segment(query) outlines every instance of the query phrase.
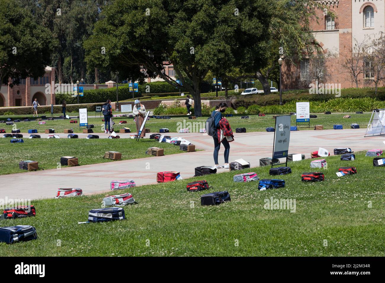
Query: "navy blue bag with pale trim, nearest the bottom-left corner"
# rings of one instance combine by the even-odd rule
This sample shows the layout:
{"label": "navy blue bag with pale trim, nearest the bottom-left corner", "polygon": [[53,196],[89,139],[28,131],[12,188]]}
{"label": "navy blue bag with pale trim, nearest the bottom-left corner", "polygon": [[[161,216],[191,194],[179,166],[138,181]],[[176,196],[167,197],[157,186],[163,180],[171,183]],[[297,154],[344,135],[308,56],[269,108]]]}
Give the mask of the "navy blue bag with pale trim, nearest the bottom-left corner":
{"label": "navy blue bag with pale trim, nearest the bottom-left corner", "polygon": [[0,228],[0,242],[12,244],[37,239],[36,229],[30,225],[17,225]]}

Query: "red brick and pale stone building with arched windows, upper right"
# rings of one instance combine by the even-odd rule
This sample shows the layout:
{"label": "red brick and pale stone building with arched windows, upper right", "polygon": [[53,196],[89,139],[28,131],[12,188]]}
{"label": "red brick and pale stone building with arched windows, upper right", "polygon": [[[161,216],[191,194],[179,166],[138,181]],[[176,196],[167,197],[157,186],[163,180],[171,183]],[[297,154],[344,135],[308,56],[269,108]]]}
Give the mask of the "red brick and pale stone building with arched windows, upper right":
{"label": "red brick and pale stone building with arched windows, upper right", "polygon": [[[332,18],[324,15],[322,9],[316,11],[318,23],[312,20],[311,28],[315,36],[315,44],[324,54],[334,54],[326,59],[326,69],[329,72],[328,84],[341,84],[342,88],[356,87],[347,70],[342,64],[346,58],[352,57],[356,40],[361,43],[366,36],[372,39],[385,32],[385,0],[320,0],[335,14]],[[369,42],[368,42],[369,43]],[[354,52],[354,51],[353,51]],[[295,64],[282,65],[282,89],[300,88],[301,77],[306,77],[310,59],[306,55]],[[370,77],[370,66],[364,66],[359,75],[359,87],[368,86],[365,78]],[[329,81],[330,80],[330,81]],[[374,84],[373,84],[374,85]],[[372,86],[373,86],[372,85]],[[385,86],[380,82],[379,86]]]}

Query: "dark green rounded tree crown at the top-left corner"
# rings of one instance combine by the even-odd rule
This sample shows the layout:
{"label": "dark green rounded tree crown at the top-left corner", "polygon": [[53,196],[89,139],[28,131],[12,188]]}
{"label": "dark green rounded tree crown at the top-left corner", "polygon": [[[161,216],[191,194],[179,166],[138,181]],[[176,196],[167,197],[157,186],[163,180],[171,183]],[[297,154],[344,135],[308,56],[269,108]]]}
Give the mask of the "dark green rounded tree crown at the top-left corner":
{"label": "dark green rounded tree crown at the top-left corner", "polygon": [[52,34],[18,7],[15,0],[0,0],[0,81],[19,84],[19,78],[44,75],[55,48]]}

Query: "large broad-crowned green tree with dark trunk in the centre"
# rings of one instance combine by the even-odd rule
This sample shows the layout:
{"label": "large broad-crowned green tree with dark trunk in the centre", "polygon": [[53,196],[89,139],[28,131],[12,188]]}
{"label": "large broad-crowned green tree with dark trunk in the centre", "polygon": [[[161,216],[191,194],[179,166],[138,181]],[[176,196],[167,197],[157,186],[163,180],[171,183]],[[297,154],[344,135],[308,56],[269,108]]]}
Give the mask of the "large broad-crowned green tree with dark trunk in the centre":
{"label": "large broad-crowned green tree with dark trunk in the centre", "polygon": [[163,67],[171,61],[201,116],[200,87],[209,70],[229,69],[239,52],[245,54],[239,65],[263,65],[274,1],[115,0],[85,43],[86,61],[132,80],[144,79],[142,69],[176,86]]}

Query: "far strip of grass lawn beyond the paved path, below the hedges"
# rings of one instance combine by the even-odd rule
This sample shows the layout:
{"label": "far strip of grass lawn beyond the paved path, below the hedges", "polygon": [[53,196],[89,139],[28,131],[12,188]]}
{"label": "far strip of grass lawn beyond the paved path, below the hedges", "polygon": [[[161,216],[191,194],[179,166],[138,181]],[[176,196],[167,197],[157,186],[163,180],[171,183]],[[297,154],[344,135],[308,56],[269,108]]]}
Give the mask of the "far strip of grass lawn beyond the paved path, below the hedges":
{"label": "far strip of grass lawn beyond the paved path, below the hedges", "polygon": [[[310,119],[310,128],[306,126],[300,126],[300,130],[313,130],[315,125],[323,125],[324,129],[333,129],[333,124],[342,124],[344,129],[350,129],[350,124],[357,123],[361,128],[366,128],[372,114],[350,114],[352,118],[343,119],[344,114],[317,114],[317,118]],[[266,127],[274,127],[275,119],[273,115],[266,115],[264,117],[258,117],[258,115],[248,115],[250,119],[241,119],[239,116],[227,117],[230,126],[235,131],[236,128],[246,128],[247,132],[265,131]],[[177,132],[179,129],[189,127],[190,132],[199,132],[200,128],[204,128],[208,117],[200,117],[198,119],[190,120],[188,117],[172,117],[171,119],[155,119],[150,118],[146,122],[146,128],[150,128],[151,132],[158,132],[161,128],[168,128],[170,132]],[[295,125],[295,116],[291,117],[291,125]],[[127,124],[119,125],[119,121],[127,121]],[[184,121],[185,120],[185,121]],[[136,132],[136,126],[133,118],[129,117],[116,117],[114,118],[114,129],[119,132],[119,129],[129,127],[132,132]],[[89,124],[94,124],[94,132],[102,132],[102,118],[89,118]],[[195,124],[189,124],[195,123]],[[74,132],[81,132],[79,124],[70,124],[70,120],[54,120],[46,121],[45,125],[39,125],[36,121],[31,122],[18,122],[17,128],[21,132],[27,132],[28,129],[37,129],[38,132],[43,133],[45,129],[53,128],[56,132],[63,132],[64,129],[74,129]],[[0,128],[4,128],[8,133],[11,132],[12,126],[6,126],[5,123],[0,124]]]}

